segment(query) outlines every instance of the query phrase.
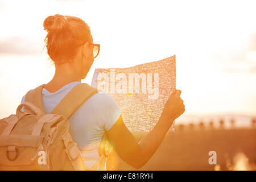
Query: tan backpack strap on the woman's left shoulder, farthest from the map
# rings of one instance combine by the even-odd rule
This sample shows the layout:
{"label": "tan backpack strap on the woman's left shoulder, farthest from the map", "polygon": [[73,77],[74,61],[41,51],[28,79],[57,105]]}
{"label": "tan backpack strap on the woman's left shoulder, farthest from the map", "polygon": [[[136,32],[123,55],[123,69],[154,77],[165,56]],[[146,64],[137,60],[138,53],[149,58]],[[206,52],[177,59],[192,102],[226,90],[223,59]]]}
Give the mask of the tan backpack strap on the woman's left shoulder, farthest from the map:
{"label": "tan backpack strap on the woman's left shoulder, farthest from the map", "polygon": [[[38,107],[42,111],[43,114],[44,114],[44,105],[43,105],[43,98],[42,98],[42,89],[44,88],[44,85],[46,84],[42,84],[35,89],[29,90],[24,100],[24,102],[28,101],[34,104],[36,107]],[[31,113],[31,110],[28,109],[27,107],[24,107],[24,112]]]}

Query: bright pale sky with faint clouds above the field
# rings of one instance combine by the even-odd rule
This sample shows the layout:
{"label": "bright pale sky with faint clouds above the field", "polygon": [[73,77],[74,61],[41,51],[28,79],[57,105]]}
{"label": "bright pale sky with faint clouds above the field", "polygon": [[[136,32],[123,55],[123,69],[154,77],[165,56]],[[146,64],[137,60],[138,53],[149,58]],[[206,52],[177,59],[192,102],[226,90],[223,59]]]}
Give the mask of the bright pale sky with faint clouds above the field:
{"label": "bright pale sky with faint clouds above the field", "polygon": [[96,68],[126,68],[176,55],[184,114],[256,113],[254,1],[0,1],[0,118],[54,75],[43,21],[72,15],[101,44]]}

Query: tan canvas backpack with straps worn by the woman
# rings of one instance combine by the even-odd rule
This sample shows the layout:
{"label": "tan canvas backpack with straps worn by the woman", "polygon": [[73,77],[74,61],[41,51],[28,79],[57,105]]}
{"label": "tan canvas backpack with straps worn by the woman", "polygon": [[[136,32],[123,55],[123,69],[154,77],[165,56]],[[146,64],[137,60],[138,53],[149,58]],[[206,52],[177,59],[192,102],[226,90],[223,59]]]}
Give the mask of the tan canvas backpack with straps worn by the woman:
{"label": "tan canvas backpack with straps worn by the woman", "polygon": [[[0,170],[103,170],[111,152],[107,136],[102,137],[100,159],[85,169],[81,152],[71,137],[68,118],[98,90],[76,85],[52,110],[44,114],[42,89],[28,91],[16,114],[0,120]],[[24,111],[21,111],[24,107]]]}

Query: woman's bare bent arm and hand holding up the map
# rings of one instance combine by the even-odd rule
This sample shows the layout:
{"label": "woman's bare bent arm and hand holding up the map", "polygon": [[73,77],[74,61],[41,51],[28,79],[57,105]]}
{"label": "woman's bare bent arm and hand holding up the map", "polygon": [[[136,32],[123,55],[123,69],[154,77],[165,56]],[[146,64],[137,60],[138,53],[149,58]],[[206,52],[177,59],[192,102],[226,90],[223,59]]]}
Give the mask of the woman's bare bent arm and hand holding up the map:
{"label": "woman's bare bent arm and hand holding up the map", "polygon": [[122,116],[110,130],[106,131],[110,143],[122,160],[135,168],[141,168],[148,162],[162,143],[174,119],[184,113],[180,93],[180,90],[176,90],[171,94],[158,123],[139,143],[123,123]]}

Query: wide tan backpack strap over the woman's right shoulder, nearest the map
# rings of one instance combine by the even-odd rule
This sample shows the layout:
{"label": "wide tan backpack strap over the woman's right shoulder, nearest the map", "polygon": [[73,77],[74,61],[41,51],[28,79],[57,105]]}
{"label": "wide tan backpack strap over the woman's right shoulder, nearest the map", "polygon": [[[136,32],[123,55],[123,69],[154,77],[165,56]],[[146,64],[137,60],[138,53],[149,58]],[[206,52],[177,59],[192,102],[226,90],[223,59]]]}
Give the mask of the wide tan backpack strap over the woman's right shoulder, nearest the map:
{"label": "wide tan backpack strap over the woman's right shoulder, nearest the map", "polygon": [[64,115],[65,118],[69,119],[88,98],[97,92],[98,89],[88,84],[78,84],[57,104],[51,114]]}

